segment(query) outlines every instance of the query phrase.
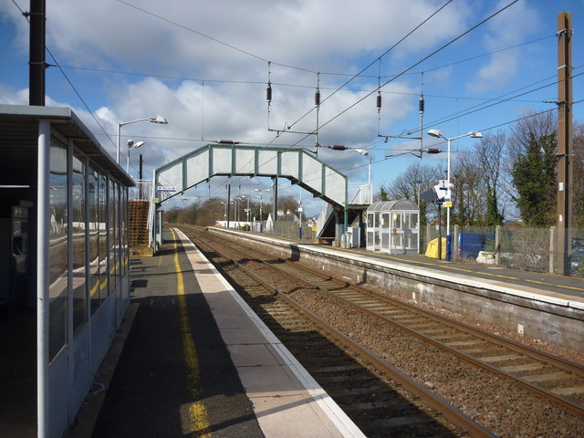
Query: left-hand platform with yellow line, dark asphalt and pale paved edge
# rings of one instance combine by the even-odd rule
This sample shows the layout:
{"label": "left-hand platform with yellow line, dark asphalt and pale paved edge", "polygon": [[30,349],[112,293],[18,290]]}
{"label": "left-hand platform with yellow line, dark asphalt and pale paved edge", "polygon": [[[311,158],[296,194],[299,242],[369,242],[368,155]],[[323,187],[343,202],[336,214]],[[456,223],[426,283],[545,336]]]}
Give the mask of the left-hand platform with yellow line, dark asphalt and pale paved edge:
{"label": "left-hand platform with yellow line, dark asphalt and pale paved edge", "polygon": [[130,280],[122,339],[69,438],[364,436],[180,231],[131,258]]}

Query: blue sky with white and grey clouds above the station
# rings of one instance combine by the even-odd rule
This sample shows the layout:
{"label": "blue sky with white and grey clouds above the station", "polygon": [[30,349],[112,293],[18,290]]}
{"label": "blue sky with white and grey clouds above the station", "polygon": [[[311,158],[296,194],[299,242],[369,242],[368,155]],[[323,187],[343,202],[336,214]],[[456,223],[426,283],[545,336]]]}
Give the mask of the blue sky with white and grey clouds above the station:
{"label": "blue sky with white and grey clouds above the station", "polygon": [[[21,11],[29,9],[28,0],[0,2],[0,103],[28,103]],[[561,11],[572,12],[578,102],[584,0],[47,0],[47,105],[73,109],[114,160],[119,122],[168,120],[122,128],[122,145],[145,143],[130,154],[134,178],[139,154],[151,175],[205,144],[232,140],[317,150],[351,185],[367,183],[370,167],[378,192],[420,160],[445,167],[446,153],[418,156],[421,147],[446,149],[427,130],[450,138],[496,133],[530,111],[555,108]],[[395,138],[420,137],[422,93],[422,144]],[[583,105],[574,106],[575,120]],[[453,141],[453,159],[475,141]],[[349,149],[326,147],[339,144]],[[214,178],[173,202],[225,197],[227,183],[232,194],[253,197],[271,180]],[[278,195],[299,199],[300,189],[279,180]],[[305,214],[318,215],[322,202],[302,196]]]}

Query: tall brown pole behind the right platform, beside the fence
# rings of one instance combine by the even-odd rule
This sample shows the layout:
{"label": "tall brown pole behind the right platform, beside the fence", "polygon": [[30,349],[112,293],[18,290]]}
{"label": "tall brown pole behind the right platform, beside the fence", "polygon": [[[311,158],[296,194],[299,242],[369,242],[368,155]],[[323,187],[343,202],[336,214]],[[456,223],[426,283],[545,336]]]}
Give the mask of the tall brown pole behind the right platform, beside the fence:
{"label": "tall brown pole behind the right platform, beside the fence", "polygon": [[558,251],[556,272],[569,275],[572,214],[572,13],[558,14]]}

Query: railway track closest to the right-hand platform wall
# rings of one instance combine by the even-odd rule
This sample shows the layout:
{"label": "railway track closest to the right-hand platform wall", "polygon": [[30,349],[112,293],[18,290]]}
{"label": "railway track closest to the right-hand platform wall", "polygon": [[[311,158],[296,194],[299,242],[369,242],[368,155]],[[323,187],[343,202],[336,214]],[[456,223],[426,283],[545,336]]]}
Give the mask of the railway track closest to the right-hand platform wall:
{"label": "railway track closest to the right-hand platform wall", "polygon": [[[240,246],[241,247],[241,246]],[[234,247],[237,249],[237,246]],[[528,348],[433,312],[415,308],[391,299],[365,287],[322,273],[307,266],[276,263],[252,248],[247,255],[273,265],[276,269],[296,276],[309,285],[327,291],[370,315],[381,318],[413,336],[449,351],[463,360],[518,381],[532,391],[549,398],[563,407],[584,415],[584,367],[569,360]],[[251,252],[253,251],[253,253]]]}

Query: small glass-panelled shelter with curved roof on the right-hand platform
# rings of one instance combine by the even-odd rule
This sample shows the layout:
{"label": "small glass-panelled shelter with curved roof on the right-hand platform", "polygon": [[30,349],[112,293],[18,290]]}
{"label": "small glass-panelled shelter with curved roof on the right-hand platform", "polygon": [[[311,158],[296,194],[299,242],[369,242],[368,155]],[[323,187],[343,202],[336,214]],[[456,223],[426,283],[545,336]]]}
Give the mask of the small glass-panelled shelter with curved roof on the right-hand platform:
{"label": "small glass-panelled shelter with curved roof on the right-hand platform", "polygon": [[420,211],[412,201],[381,201],[367,209],[367,249],[387,254],[418,254]]}

